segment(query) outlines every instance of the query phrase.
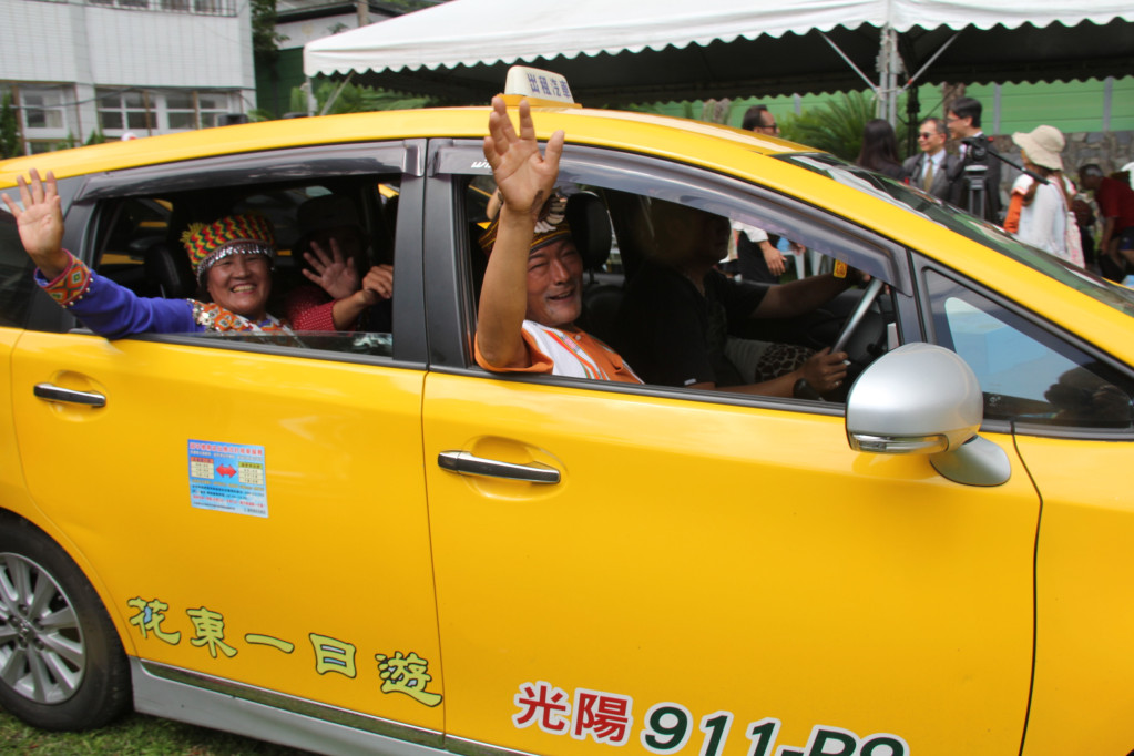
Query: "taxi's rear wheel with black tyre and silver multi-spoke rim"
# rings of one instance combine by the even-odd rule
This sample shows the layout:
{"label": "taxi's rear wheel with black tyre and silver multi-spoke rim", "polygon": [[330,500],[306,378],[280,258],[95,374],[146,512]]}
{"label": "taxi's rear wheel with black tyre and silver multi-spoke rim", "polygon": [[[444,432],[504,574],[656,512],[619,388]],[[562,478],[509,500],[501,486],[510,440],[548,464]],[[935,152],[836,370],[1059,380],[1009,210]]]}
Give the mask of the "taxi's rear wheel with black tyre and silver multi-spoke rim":
{"label": "taxi's rear wheel with black tyre and silver multi-spoke rim", "polygon": [[0,518],[0,705],[43,730],[90,730],[132,706],[107,610],[45,533]]}

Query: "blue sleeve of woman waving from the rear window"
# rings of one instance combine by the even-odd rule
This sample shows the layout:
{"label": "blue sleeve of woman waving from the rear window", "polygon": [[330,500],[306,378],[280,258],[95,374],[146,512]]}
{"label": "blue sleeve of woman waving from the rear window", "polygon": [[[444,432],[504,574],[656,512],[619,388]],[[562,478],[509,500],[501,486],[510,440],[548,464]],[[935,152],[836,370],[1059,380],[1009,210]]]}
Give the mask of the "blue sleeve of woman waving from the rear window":
{"label": "blue sleeve of woman waving from the rear window", "polygon": [[[36,282],[46,286],[35,272]],[[108,339],[135,333],[194,333],[205,330],[193,320],[188,299],[139,297],[129,289],[91,271],[91,282],[82,298],[67,309],[85,326]]]}

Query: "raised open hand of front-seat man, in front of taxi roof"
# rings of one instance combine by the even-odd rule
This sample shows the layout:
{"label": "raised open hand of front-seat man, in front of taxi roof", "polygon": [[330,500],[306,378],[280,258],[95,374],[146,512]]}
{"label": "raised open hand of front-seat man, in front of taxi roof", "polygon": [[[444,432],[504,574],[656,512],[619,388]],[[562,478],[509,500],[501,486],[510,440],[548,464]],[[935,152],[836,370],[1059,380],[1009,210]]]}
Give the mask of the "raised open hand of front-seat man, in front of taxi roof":
{"label": "raised open hand of front-seat man, in front of taxi roof", "polygon": [[489,134],[484,137],[484,158],[506,209],[526,212],[533,218],[551,196],[559,176],[559,158],[564,150],[564,133],[551,135],[543,155],[535,141],[535,126],[526,100],[519,103],[519,134],[513,128],[503,99],[492,97]]}

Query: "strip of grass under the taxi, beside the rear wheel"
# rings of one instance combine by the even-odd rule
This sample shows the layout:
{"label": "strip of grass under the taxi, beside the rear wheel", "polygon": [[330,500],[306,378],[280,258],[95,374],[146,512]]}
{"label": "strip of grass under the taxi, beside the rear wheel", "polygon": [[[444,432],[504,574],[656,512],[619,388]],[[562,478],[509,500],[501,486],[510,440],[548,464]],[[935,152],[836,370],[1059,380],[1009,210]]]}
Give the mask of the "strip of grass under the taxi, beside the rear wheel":
{"label": "strip of grass under the taxi, beside the rear wheel", "polygon": [[0,754],[34,756],[303,756],[304,750],[130,714],[93,732],[44,732],[0,708]]}

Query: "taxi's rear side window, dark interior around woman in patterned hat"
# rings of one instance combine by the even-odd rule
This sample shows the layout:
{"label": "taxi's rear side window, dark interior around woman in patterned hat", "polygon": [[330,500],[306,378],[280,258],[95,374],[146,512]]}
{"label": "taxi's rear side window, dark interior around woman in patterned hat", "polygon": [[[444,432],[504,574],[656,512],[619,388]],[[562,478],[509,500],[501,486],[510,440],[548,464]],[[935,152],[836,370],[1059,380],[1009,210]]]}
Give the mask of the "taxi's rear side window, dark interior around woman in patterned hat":
{"label": "taxi's rear side window, dark interior around woman in patterned hat", "polygon": [[[90,257],[96,261],[100,274],[141,297],[208,301],[209,294],[188,263],[183,232],[225,215],[266,218],[276,239],[268,313],[285,321],[291,332],[280,337],[206,331],[195,337],[218,346],[390,357],[391,299],[366,305],[346,320],[333,305],[358,292],[374,266],[392,263],[399,185],[400,175],[339,176],[104,199],[95,211]],[[337,279],[333,283],[341,290],[328,292],[307,275],[312,264],[304,253],[312,252],[314,238],[330,257],[332,237],[341,247],[339,267],[350,261],[354,277]],[[342,287],[352,281],[350,291],[346,291]]]}

